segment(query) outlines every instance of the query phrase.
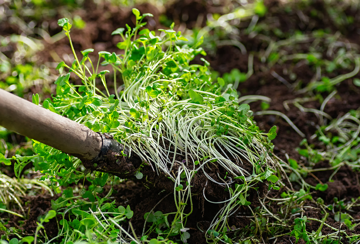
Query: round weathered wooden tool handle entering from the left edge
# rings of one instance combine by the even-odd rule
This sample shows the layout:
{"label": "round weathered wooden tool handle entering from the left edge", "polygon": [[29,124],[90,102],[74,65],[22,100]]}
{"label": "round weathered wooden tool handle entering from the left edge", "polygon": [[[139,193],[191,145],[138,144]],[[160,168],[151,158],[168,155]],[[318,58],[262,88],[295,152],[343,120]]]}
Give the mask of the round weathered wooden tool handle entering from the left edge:
{"label": "round weathered wooden tool handle entering from the left edge", "polygon": [[97,157],[102,137],[50,110],[0,89],[0,126],[83,160]]}

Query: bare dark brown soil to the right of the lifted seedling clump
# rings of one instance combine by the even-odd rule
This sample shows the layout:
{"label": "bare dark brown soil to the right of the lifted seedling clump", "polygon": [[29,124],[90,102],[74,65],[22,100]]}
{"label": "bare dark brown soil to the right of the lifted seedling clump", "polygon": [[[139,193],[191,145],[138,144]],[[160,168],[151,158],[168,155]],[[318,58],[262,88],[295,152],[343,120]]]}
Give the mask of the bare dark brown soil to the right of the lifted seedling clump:
{"label": "bare dark brown soil to the right of the lifted seedling clump", "polygon": [[[320,29],[329,27],[330,33],[334,33],[336,31],[341,31],[346,37],[349,42],[356,43],[357,41],[354,40],[354,32],[353,25],[345,25],[341,26],[341,28],[337,28],[337,26],[333,23],[333,20],[327,16],[325,11],[324,17],[322,19],[319,18],[311,18],[309,16],[309,12],[311,10],[316,9],[319,11],[321,8],[324,8],[324,4],[322,1],[314,1],[314,4],[311,7],[307,7],[303,13],[305,14],[306,18],[310,17],[309,23],[303,23],[301,19],[299,19],[298,14],[293,9],[292,12],[285,13],[284,8],[279,8],[280,3],[277,1],[269,1],[268,7],[269,12],[266,15],[267,19],[269,20],[267,23],[270,25],[269,30],[273,28],[280,28],[283,32],[290,31],[294,33],[296,30],[300,30],[303,33],[310,33],[312,30]],[[302,9],[300,9],[302,11]],[[354,14],[354,18],[359,17],[359,12],[350,12],[347,10],[347,13]],[[271,18],[270,18],[271,16]],[[260,22],[261,20],[259,20]],[[266,22],[265,19],[263,19]],[[273,22],[273,26],[271,23]],[[247,26],[248,22],[243,22],[242,26]],[[241,29],[240,29],[241,31]],[[265,34],[265,33],[264,33]],[[270,33],[267,32],[267,35]],[[273,34],[274,35],[274,34]],[[271,36],[273,40],[279,40],[279,37]],[[359,34],[356,34],[357,40],[359,39]],[[306,135],[307,141],[310,143],[314,143],[318,148],[321,148],[321,145],[318,141],[312,140],[310,137],[315,133],[317,130],[316,126],[321,125],[319,119],[315,116],[314,113],[305,113],[301,112],[298,108],[293,105],[289,105],[290,109],[285,109],[283,102],[286,100],[292,100],[295,98],[305,98],[306,94],[297,94],[296,90],[289,89],[284,83],[280,82],[276,79],[273,75],[271,75],[272,71],[275,71],[280,76],[285,78],[287,81],[291,81],[288,73],[285,73],[285,70],[292,70],[293,73],[297,75],[297,78],[302,80],[304,84],[311,80],[314,76],[315,71],[309,65],[303,64],[294,67],[291,63],[284,63],[282,65],[275,64],[273,67],[267,67],[266,63],[262,63],[260,61],[260,57],[257,57],[257,53],[260,50],[264,50],[267,48],[267,43],[264,42],[262,39],[259,39],[257,36],[253,37],[252,39],[249,38],[247,35],[240,34],[240,40],[246,46],[248,51],[252,51],[254,54],[254,74],[244,83],[241,83],[238,87],[238,91],[241,92],[242,95],[263,95],[271,98],[270,107],[268,110],[276,110],[284,113],[288,116],[292,122]],[[303,47],[304,50],[308,50],[306,45]],[[306,52],[305,52],[306,53]],[[232,69],[237,68],[240,72],[247,73],[248,71],[248,54],[242,54],[242,52],[235,46],[222,46],[217,49],[216,55],[211,57],[205,57],[211,64],[211,67],[219,71],[220,74],[230,72]],[[291,67],[292,65],[292,67]],[[338,71],[339,74],[341,73],[348,73],[350,70]],[[336,76],[337,74],[333,74]],[[355,77],[359,78],[360,75],[357,74]],[[347,79],[343,81],[341,84],[336,86],[338,91],[337,96],[334,97],[329,101],[327,106],[324,109],[324,112],[328,113],[332,118],[339,118],[345,113],[347,113],[350,109],[358,109],[360,107],[360,89],[356,87],[352,83],[352,79]],[[324,97],[327,94],[323,94]],[[310,101],[302,104],[306,108],[314,108],[319,109],[321,103],[316,101]],[[261,111],[261,104],[260,102],[251,103],[251,109],[256,111]],[[278,127],[277,134],[278,136],[272,141],[275,145],[274,152],[286,161],[285,153],[289,155],[290,158],[296,159],[297,162],[307,164],[306,159],[301,157],[298,152],[295,150],[298,146],[303,137],[297,134],[289,124],[284,121],[281,117],[274,116],[274,115],[266,115],[266,116],[255,116],[255,121],[258,122],[258,126],[260,129],[268,131],[273,125]],[[329,167],[328,162],[320,162],[316,164],[315,168],[326,168]],[[321,197],[325,200],[325,204],[333,203],[333,198],[337,197],[338,199],[345,198],[346,200],[350,200],[351,198],[357,198],[360,195],[360,185],[359,185],[359,177],[356,172],[351,170],[347,166],[342,166],[338,172],[333,176],[332,181],[329,182],[329,177],[333,173],[333,170],[328,171],[321,171],[314,173],[315,177],[317,177],[321,182],[327,183],[329,185],[328,190],[321,192],[317,191],[312,194],[314,199]],[[311,185],[316,185],[319,181],[309,176],[306,181]],[[346,202],[345,200],[345,202]],[[309,204],[311,205],[311,204]],[[316,207],[316,204],[313,204]],[[338,210],[337,210],[338,211]],[[313,217],[322,219],[324,217],[324,213],[320,213],[320,209],[318,211],[307,211],[304,215],[307,217]],[[357,216],[357,211],[351,213],[354,217]],[[330,214],[328,217],[327,223],[333,227],[338,228],[339,223],[334,222],[333,214]],[[317,230],[320,226],[319,222],[311,221],[307,224],[307,231]],[[346,226],[342,226],[342,230],[346,230]],[[359,231],[359,230],[355,230]],[[329,227],[322,229],[323,233],[333,232]],[[292,239],[292,243],[295,243],[295,239]],[[300,240],[298,243],[302,243]],[[344,240],[345,241],[345,240]],[[271,242],[270,242],[271,243]],[[291,243],[289,237],[279,238],[277,243]],[[346,241],[345,241],[346,243]]]}

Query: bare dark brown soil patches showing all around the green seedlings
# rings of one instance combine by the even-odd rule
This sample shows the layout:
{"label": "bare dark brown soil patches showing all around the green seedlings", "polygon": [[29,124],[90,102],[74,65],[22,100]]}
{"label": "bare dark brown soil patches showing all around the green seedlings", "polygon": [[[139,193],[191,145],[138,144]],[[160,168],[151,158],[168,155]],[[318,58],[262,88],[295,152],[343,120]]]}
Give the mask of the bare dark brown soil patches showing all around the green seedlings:
{"label": "bare dark brown soil patches showing all around the green seedlings", "polygon": [[[171,5],[167,5],[164,12],[161,12],[156,7],[144,3],[138,6],[135,6],[140,10],[141,13],[152,13],[153,18],[147,19],[147,26],[150,30],[156,30],[157,28],[163,28],[168,22],[163,21],[164,16],[170,20],[174,21],[176,28],[184,29],[202,27],[206,24],[206,16],[209,13],[224,13],[226,12],[222,6],[228,4],[227,1],[217,1],[218,3],[214,4],[215,1],[205,1],[205,0],[186,0],[186,1],[175,1]],[[359,32],[357,31],[360,28],[360,13],[359,10],[355,11],[350,7],[346,7],[343,4],[338,4],[337,6],[330,6],[332,8],[343,8],[343,11],[354,19],[353,23],[348,23],[343,21],[341,23],[336,21],[332,15],[329,14],[329,6],[325,5],[323,1],[314,0],[309,1],[309,5],[301,3],[295,5],[295,3],[290,3],[285,8],[281,1],[276,0],[267,0],[265,1],[268,8],[268,13],[265,17],[261,17],[258,23],[265,23],[268,28],[262,30],[259,34],[268,36],[274,41],[285,39],[289,36],[294,35],[296,31],[302,33],[310,33],[314,30],[327,30],[329,33],[335,33],[339,31],[343,36],[343,40],[348,40],[350,43],[357,43],[360,39]],[[230,5],[229,5],[230,6]],[[231,5],[232,8],[237,5]],[[331,11],[330,11],[331,12]],[[94,53],[98,51],[107,50],[109,52],[115,51],[118,53],[116,48],[117,42],[121,41],[118,36],[111,36],[111,32],[116,30],[119,27],[124,27],[125,24],[129,24],[131,27],[134,26],[134,16],[131,14],[131,8],[117,8],[109,4],[104,4],[101,8],[93,3],[88,3],[84,5],[83,10],[75,10],[74,15],[80,15],[82,19],[86,22],[86,27],[83,30],[74,29],[72,30],[71,36],[74,44],[74,48],[77,51],[84,50],[87,48],[94,48]],[[43,21],[49,22],[50,28],[49,32],[51,35],[54,35],[60,32],[60,28],[57,27],[57,19],[62,18],[58,13],[54,18],[45,19]],[[160,23],[159,18],[162,19]],[[41,22],[38,23],[41,25]],[[244,44],[247,49],[247,54],[243,54],[235,46],[221,46],[217,50],[212,50],[213,55],[208,55],[205,57],[211,64],[213,70],[224,74],[230,72],[232,69],[237,68],[240,72],[246,73],[248,71],[248,54],[254,54],[254,74],[244,83],[241,83],[238,87],[238,91],[242,95],[263,95],[271,99],[270,107],[268,110],[276,110],[284,113],[288,116],[293,123],[305,134],[305,138],[310,143],[314,143],[318,148],[322,148],[323,145],[320,144],[316,139],[311,139],[310,137],[317,130],[316,126],[320,125],[318,117],[314,113],[305,113],[301,112],[297,107],[292,104],[289,104],[289,110],[285,109],[283,102],[286,100],[292,100],[295,98],[305,98],[307,94],[297,94],[296,90],[291,90],[284,83],[276,79],[271,73],[275,71],[277,74],[282,76],[285,80],[291,81],[289,77],[289,70],[292,70],[296,74],[298,80],[302,80],[303,88],[306,83],[308,83],[315,74],[315,70],[310,65],[303,63],[302,65],[293,65],[290,62],[285,62],[282,65],[275,64],[272,67],[269,67],[266,63],[262,63],[260,60],[259,51],[265,50],[269,45],[264,39],[257,35],[255,37],[250,37],[244,31],[249,25],[249,20],[244,20],[239,24],[240,35],[238,39]],[[275,33],[275,30],[279,29],[283,34],[279,35]],[[0,23],[0,32],[3,35],[10,33],[21,34],[15,25],[9,23]],[[41,60],[39,62],[59,62],[64,57],[64,54],[70,54],[71,49],[68,45],[68,40],[63,38],[62,40],[51,44],[45,43],[46,48],[39,55]],[[311,43],[309,43],[310,45]],[[303,44],[301,49],[304,51],[309,49],[308,44]],[[49,51],[50,50],[50,51]],[[12,50],[8,51],[8,55],[11,55]],[[80,54],[80,53],[79,53]],[[91,56],[90,56],[91,57]],[[95,56],[94,56],[95,58]],[[200,62],[200,57],[195,59],[195,62]],[[336,76],[341,73],[348,73],[349,70],[338,70],[338,73],[330,74],[329,76]],[[360,78],[360,74],[355,76]],[[292,82],[291,82],[292,83]],[[352,78],[347,79],[341,82],[336,86],[338,91],[337,96],[334,96],[328,104],[326,105],[324,112],[328,113],[332,118],[338,118],[343,114],[347,113],[350,109],[358,109],[360,107],[360,89],[357,86],[354,86],[352,83]],[[321,94],[324,97],[327,94]],[[319,109],[321,103],[319,100],[309,101],[302,104],[306,108]],[[251,103],[251,109],[256,111],[261,111],[260,102]],[[278,136],[272,141],[275,145],[274,152],[284,161],[286,161],[285,153],[288,154],[290,158],[296,159],[298,163],[308,165],[306,159],[301,157],[298,152],[295,150],[300,141],[303,139],[296,131],[293,130],[291,126],[288,125],[281,117],[274,115],[265,115],[265,116],[255,116],[255,121],[261,130],[268,131],[273,125],[278,127],[277,134]],[[328,167],[328,162],[319,162],[315,165],[315,168],[324,168]],[[318,180],[329,185],[328,190],[324,192],[316,191],[312,194],[312,197],[316,200],[321,197],[324,199],[325,204],[332,204],[334,197],[338,199],[345,198],[346,200],[351,200],[351,198],[357,198],[360,195],[360,185],[358,174],[352,171],[347,166],[342,166],[338,172],[333,176],[333,181],[329,182],[329,176],[333,173],[332,170],[314,172],[315,177],[309,176],[306,179],[306,182],[311,185],[318,184]],[[198,179],[197,179],[198,177]],[[195,182],[198,182],[198,186],[195,188],[201,189],[203,187],[203,178],[202,175],[195,177]],[[216,175],[214,177],[217,177]],[[149,190],[140,182],[126,181],[121,185],[114,186],[114,189],[117,191],[116,195],[113,195],[116,202],[119,205],[129,204],[131,209],[134,211],[134,217],[132,218],[132,225],[135,228],[136,234],[140,235],[143,230],[144,225],[144,213],[149,212],[154,205],[156,205],[160,199],[163,199],[161,203],[157,205],[154,211],[163,211],[169,212],[174,211],[174,199],[172,195],[168,195],[168,191],[162,192],[163,189],[166,189],[165,186],[156,186]],[[223,195],[222,192],[217,189],[217,192],[211,193],[211,187],[208,188],[207,194],[211,195],[213,198],[218,198],[220,200]],[[266,189],[262,189],[264,192]],[[253,194],[255,195],[255,194]],[[50,198],[47,196],[39,196],[36,198],[24,199],[24,201],[29,201],[28,205],[31,210],[31,216],[26,220],[26,223],[19,226],[18,219],[15,218],[9,222],[9,226],[20,227],[24,233],[30,234],[33,233],[36,228],[36,218],[41,214],[44,214],[51,207]],[[317,208],[317,205],[314,202],[306,202],[306,205],[313,206]],[[194,212],[188,220],[190,228],[191,239],[190,243],[206,243],[204,233],[198,230],[200,226],[202,230],[206,230],[209,223],[212,221],[213,216],[211,214],[204,213],[216,213],[219,211],[220,205],[211,204],[203,200],[202,197],[197,197],[194,199]],[[275,208],[275,207],[274,207]],[[242,209],[244,211],[244,209]],[[277,212],[277,209],[274,209]],[[352,217],[355,219],[360,218],[360,209],[354,208],[354,213],[351,213]],[[319,210],[306,209],[305,215],[307,217],[313,217],[322,219],[324,214]],[[30,218],[31,217],[31,218]],[[328,217],[327,223],[330,226],[338,227],[339,223],[333,220],[333,214],[330,214]],[[229,226],[235,225],[236,228],[245,228],[249,225],[250,221],[248,218],[238,218],[231,217],[229,220]],[[50,225],[48,223],[48,225]],[[55,223],[54,223],[55,225]],[[314,230],[316,231],[319,227],[319,222],[311,221],[307,223],[307,231]],[[57,226],[49,227],[46,229],[48,235],[57,234]],[[51,229],[52,228],[52,229]],[[346,230],[346,226],[342,226],[343,230]],[[360,229],[355,231],[360,232]],[[323,234],[328,234],[333,232],[329,227],[323,227]],[[265,240],[264,243],[272,243],[274,239],[267,240],[270,236],[263,235]],[[289,236],[281,237],[277,240],[276,243],[287,244],[295,243],[295,238]],[[298,241],[299,244],[305,243],[303,240]],[[346,243],[346,242],[343,242]]]}

